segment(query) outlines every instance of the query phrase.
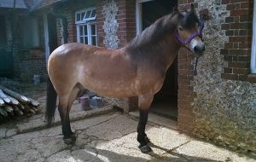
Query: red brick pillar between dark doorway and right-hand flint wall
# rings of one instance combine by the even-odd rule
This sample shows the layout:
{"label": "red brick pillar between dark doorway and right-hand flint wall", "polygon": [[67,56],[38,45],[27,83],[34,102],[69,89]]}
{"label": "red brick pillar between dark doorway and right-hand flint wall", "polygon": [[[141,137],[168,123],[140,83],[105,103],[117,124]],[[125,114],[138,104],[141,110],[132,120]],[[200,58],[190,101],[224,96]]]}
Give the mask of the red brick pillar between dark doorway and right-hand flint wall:
{"label": "red brick pillar between dark doorway and right-hand flint wall", "polygon": [[[177,3],[179,10],[182,11],[190,9],[194,0],[177,1]],[[194,6],[197,8],[197,3]],[[180,49],[177,56],[177,130],[190,136],[195,136],[195,113],[191,106],[191,102],[196,96],[192,84],[194,80],[193,61],[194,55],[188,49]]]}

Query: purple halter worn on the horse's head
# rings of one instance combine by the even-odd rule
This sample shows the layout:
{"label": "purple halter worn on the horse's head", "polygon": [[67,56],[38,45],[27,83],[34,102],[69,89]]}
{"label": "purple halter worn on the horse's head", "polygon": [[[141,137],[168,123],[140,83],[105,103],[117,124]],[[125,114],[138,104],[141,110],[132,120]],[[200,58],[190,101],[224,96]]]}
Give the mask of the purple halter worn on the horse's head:
{"label": "purple halter worn on the horse's head", "polygon": [[190,43],[191,40],[192,40],[193,38],[197,37],[197,36],[202,39],[202,30],[203,30],[204,27],[205,27],[205,20],[204,20],[203,16],[200,16],[199,26],[200,26],[199,31],[195,32],[194,34],[191,34],[190,37],[189,37],[187,40],[185,40],[185,41],[183,41],[183,40],[178,36],[178,33],[176,32],[176,38],[177,38],[178,42],[180,42],[180,43],[182,43],[183,45],[185,45],[185,44]]}

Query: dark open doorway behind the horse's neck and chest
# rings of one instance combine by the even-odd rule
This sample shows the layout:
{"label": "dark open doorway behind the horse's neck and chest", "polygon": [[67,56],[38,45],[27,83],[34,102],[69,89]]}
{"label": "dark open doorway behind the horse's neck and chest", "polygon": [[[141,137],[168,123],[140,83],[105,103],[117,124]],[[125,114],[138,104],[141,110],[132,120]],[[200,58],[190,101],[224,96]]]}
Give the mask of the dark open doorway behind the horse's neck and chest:
{"label": "dark open doorway behind the horse's neck and chest", "polygon": [[[143,30],[161,16],[172,13],[175,6],[177,0],[154,0],[142,3]],[[166,72],[162,89],[154,95],[150,112],[177,120],[177,59]]]}

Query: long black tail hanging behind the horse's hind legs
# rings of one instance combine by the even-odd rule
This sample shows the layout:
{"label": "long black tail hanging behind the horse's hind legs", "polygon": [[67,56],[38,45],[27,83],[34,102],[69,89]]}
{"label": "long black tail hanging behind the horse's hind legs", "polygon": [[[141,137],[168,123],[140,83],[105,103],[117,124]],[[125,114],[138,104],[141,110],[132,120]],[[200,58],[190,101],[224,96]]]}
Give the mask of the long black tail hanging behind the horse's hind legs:
{"label": "long black tail hanging behind the horse's hind legs", "polygon": [[57,93],[50,79],[47,80],[47,105],[45,111],[45,121],[49,127],[55,116]]}

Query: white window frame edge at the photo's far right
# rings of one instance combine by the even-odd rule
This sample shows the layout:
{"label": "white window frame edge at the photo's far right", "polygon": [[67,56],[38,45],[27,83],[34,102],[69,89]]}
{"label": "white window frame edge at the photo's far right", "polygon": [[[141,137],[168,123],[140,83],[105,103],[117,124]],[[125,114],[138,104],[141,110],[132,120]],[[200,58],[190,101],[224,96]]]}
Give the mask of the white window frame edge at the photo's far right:
{"label": "white window frame edge at the photo's far right", "polygon": [[251,55],[251,72],[256,73],[256,0],[253,7],[253,43]]}

